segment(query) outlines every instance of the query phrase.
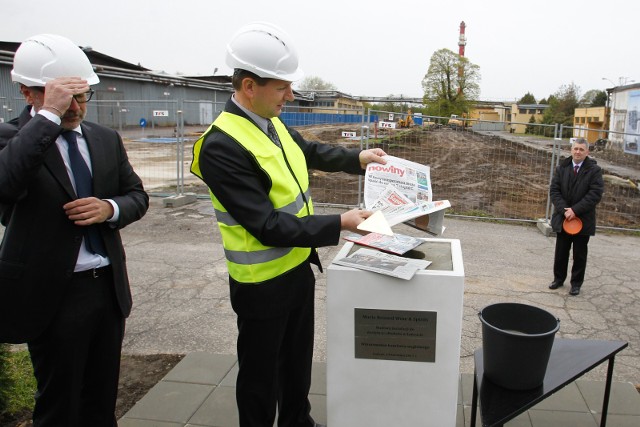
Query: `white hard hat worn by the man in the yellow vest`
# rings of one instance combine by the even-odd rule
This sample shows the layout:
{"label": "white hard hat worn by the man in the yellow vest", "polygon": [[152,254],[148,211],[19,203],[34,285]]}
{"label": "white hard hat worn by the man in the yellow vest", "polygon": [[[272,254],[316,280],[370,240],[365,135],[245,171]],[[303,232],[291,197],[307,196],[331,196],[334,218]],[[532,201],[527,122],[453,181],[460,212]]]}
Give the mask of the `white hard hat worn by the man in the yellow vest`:
{"label": "white hard hat worn by the man in the yellow vest", "polygon": [[288,82],[300,80],[304,74],[289,35],[267,22],[247,24],[233,35],[227,44],[227,65]]}

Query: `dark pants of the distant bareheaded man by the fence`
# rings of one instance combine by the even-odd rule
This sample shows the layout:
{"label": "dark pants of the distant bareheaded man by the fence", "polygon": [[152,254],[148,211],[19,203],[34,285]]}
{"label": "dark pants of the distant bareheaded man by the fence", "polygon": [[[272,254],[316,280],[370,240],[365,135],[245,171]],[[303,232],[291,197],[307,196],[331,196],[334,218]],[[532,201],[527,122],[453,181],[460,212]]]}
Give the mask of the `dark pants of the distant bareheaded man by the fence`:
{"label": "dark pants of the distant bareheaded man by the fence", "polygon": [[553,261],[554,282],[564,283],[567,278],[569,252],[573,245],[573,265],[571,267],[571,286],[582,286],[587,269],[588,235],[571,235],[560,232],[556,236],[556,254]]}

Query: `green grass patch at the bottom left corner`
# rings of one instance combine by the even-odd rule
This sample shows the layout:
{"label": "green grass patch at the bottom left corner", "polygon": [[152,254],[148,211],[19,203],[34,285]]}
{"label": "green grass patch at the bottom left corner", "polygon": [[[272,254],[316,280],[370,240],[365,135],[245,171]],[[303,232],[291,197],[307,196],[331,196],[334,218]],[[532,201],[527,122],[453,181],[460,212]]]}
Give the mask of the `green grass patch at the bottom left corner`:
{"label": "green grass patch at the bottom left corner", "polygon": [[0,344],[0,416],[32,411],[35,391],[29,352]]}

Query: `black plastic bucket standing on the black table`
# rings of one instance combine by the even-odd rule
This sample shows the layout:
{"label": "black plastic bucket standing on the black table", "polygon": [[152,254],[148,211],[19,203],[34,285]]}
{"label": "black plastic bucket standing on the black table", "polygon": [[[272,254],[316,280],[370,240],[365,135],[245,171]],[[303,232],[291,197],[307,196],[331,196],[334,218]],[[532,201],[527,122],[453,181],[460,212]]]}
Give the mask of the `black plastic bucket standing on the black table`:
{"label": "black plastic bucket standing on the black table", "polygon": [[484,375],[511,390],[542,385],[560,320],[526,304],[499,303],[478,313]]}

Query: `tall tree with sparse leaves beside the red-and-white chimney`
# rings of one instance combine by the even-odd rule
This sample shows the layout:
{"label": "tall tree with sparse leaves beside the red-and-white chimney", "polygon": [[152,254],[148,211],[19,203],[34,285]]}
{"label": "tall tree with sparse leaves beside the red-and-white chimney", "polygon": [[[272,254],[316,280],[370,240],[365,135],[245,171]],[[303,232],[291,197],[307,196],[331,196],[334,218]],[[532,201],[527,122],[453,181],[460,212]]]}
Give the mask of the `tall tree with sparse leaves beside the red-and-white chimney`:
{"label": "tall tree with sparse leaves beside the red-and-white chimney", "polygon": [[449,49],[440,49],[431,55],[422,88],[429,115],[466,113],[480,95],[480,67]]}

